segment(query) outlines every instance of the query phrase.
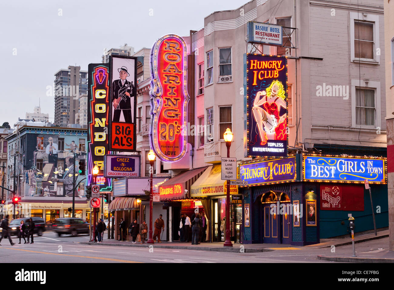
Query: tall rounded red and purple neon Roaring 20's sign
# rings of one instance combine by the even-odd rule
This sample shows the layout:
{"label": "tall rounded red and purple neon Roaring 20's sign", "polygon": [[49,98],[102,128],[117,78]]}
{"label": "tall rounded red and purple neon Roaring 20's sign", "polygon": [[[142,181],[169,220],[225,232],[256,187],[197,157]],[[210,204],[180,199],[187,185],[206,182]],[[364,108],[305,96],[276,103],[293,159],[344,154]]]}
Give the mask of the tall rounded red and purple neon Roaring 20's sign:
{"label": "tall rounded red and purple neon Roaring 20's sign", "polygon": [[187,49],[176,35],[163,36],[151,50],[151,148],[159,159],[173,162],[186,153]]}

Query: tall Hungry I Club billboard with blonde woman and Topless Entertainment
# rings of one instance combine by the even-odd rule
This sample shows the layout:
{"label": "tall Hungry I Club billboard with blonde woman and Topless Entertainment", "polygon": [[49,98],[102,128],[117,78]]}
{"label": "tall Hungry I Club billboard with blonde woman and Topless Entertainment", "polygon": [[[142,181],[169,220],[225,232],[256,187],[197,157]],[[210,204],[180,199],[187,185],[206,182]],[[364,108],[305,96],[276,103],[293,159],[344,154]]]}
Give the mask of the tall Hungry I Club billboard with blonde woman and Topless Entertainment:
{"label": "tall Hungry I Club billboard with blonde woman and Topless Entertainment", "polygon": [[287,58],[247,54],[247,155],[287,157]]}

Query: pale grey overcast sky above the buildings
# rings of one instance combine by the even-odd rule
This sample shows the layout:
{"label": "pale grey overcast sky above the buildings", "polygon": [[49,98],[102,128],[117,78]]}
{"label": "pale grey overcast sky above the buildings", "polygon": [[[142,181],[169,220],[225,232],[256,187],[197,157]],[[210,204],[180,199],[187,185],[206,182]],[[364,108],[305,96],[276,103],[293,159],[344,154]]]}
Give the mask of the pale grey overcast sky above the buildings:
{"label": "pale grey overcast sky above the buildings", "polygon": [[189,30],[204,26],[210,13],[247,2],[1,0],[0,125],[9,122],[13,127],[18,117],[33,112],[40,98],[41,112],[54,122],[54,97],[46,95],[46,87],[61,68],[80,65],[87,70],[89,63],[101,62],[104,48],[127,43],[138,51],[164,34],[188,36]]}

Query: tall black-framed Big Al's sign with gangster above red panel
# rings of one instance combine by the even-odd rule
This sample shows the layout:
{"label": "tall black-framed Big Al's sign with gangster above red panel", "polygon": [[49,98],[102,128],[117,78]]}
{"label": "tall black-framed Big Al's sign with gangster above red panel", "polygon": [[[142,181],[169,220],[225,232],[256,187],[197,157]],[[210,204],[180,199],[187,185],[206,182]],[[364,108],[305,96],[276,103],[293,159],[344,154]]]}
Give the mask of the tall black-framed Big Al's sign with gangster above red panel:
{"label": "tall black-framed Big Al's sign with gangster above red panel", "polygon": [[110,57],[110,142],[111,151],[136,151],[137,58]]}

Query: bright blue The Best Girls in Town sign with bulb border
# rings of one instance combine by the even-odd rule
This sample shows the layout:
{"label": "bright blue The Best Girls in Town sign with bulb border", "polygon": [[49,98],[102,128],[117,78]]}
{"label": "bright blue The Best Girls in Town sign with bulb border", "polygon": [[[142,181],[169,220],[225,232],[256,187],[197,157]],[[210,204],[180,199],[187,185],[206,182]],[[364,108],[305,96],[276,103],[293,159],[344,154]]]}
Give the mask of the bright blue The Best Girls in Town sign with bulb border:
{"label": "bright blue The Best Girls in Town sign with bulb border", "polygon": [[385,158],[303,156],[305,181],[386,183]]}

